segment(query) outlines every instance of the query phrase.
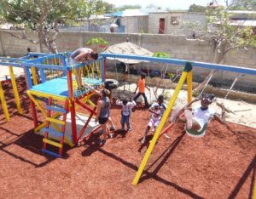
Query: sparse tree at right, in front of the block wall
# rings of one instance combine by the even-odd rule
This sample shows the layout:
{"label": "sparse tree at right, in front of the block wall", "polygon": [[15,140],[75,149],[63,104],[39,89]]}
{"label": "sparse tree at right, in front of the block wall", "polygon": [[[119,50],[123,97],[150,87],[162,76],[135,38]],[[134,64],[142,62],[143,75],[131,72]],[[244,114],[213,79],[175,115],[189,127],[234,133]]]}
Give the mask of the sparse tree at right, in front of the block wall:
{"label": "sparse tree at right, in front of the block wall", "polygon": [[[207,11],[207,31],[203,37],[211,37],[214,41],[213,62],[219,64],[231,50],[239,48],[256,48],[256,35],[253,27],[233,24],[227,9],[218,7]],[[194,89],[199,92],[212,78],[212,71],[201,84]]]}

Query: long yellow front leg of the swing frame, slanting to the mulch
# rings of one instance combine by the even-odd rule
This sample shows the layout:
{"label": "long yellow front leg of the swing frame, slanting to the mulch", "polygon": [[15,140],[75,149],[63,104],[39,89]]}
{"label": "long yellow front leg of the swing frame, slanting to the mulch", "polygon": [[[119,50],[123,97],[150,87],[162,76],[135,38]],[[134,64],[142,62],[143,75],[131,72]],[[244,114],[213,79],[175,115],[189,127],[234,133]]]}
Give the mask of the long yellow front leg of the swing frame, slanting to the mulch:
{"label": "long yellow front leg of the swing frame, slanting to the mulch", "polygon": [[167,117],[170,115],[171,111],[172,111],[172,106],[174,105],[176,99],[177,99],[177,94],[179,93],[179,91],[181,90],[182,86],[183,86],[183,82],[185,81],[186,77],[188,75],[187,71],[183,71],[182,76],[180,77],[178,83],[177,83],[177,87],[175,88],[174,94],[172,95],[172,98],[169,101],[168,107],[164,113],[164,116],[162,117],[159,127],[156,129],[155,133],[154,133],[154,137],[151,140],[151,143],[148,147],[148,150],[146,151],[145,156],[143,157],[143,162],[141,163],[139,169],[137,170],[137,174],[135,176],[135,178],[132,181],[132,185],[137,185],[138,180],[141,178],[141,175],[143,174],[143,170],[146,167],[146,164],[148,162],[148,158],[151,154],[151,152],[154,149],[154,145],[157,141],[157,139],[159,138],[160,132],[162,130],[162,128],[165,125],[165,122],[167,120]]}

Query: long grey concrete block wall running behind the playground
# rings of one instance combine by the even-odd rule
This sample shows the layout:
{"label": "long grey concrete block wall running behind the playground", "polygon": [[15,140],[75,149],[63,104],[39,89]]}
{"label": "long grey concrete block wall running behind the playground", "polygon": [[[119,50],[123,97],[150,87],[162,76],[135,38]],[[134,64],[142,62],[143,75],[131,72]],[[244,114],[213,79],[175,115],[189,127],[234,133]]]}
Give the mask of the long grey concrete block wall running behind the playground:
{"label": "long grey concrete block wall running behind the playground", "polygon": [[[13,31],[17,35],[21,35],[20,31]],[[37,33],[30,32],[29,37],[38,38]],[[97,33],[97,32],[61,32],[56,41],[59,52],[74,50],[85,46],[85,42],[91,37],[102,37],[108,41],[109,45],[125,42],[129,37],[131,43],[135,43],[138,46],[147,48],[152,52],[162,51],[171,55],[174,59],[183,60],[195,60],[202,62],[213,61],[213,41],[198,41],[188,40],[181,36],[172,35],[159,35],[159,34],[119,34],[119,33]],[[1,56],[23,56],[26,54],[26,48],[32,48],[32,51],[40,52],[40,46],[38,44],[32,44],[26,40],[20,40],[12,37],[8,33],[0,31],[0,55]],[[48,52],[48,49],[43,48],[43,52]],[[109,63],[109,62],[108,62]],[[113,63],[113,62],[112,62]],[[230,51],[222,62],[226,65],[237,65],[249,68],[256,68],[256,49],[240,49]],[[161,65],[155,63],[142,64],[143,67],[158,69]],[[170,70],[176,72],[178,68],[182,68],[177,65],[170,65]],[[195,81],[201,81],[209,73],[207,69],[194,69]],[[213,83],[226,83],[227,86],[231,85],[231,82],[237,76],[236,73],[219,71],[212,78]],[[245,76],[239,78],[236,83],[242,88],[254,89],[256,88],[255,76]]]}

